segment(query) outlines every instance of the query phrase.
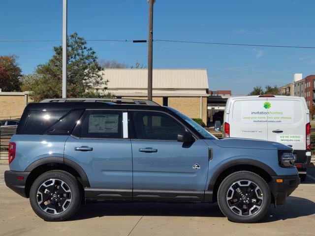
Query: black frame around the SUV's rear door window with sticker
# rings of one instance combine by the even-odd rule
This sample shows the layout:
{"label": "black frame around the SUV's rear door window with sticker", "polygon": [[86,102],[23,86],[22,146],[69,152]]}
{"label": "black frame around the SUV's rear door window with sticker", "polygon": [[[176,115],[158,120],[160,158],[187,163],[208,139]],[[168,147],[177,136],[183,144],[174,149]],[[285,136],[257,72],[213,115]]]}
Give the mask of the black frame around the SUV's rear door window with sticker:
{"label": "black frame around the SUV's rear door window with sticker", "polygon": [[[83,121],[87,118],[88,114],[90,111],[111,111],[111,112],[122,112],[122,138],[93,138],[93,137],[82,137],[82,123]],[[124,125],[124,113],[127,113],[127,127]],[[124,138],[124,128],[126,127],[127,129],[127,137]],[[74,126],[70,136],[76,139],[86,139],[86,140],[130,140],[130,125],[129,125],[129,114],[128,114],[128,110],[126,109],[85,109],[85,111],[83,112],[81,118],[79,119],[79,121],[77,122],[77,124]],[[78,132],[78,130],[80,132]]]}

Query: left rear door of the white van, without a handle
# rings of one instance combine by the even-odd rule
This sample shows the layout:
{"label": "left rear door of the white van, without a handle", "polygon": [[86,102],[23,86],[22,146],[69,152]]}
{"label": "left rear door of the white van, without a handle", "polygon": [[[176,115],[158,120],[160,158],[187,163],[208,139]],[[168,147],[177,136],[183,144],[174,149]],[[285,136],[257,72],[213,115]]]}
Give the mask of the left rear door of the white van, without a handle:
{"label": "left rear door of the white van, without a handle", "polygon": [[231,138],[267,140],[267,98],[234,99],[228,114]]}

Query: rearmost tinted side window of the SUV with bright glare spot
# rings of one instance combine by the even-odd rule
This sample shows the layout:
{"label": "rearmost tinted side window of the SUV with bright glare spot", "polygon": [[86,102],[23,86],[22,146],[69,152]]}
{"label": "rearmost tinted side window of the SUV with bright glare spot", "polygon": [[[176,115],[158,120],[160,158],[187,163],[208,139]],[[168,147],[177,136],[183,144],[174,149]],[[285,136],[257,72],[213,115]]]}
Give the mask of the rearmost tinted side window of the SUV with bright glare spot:
{"label": "rearmost tinted side window of the SUV with bright glare spot", "polygon": [[44,134],[44,131],[62,118],[67,111],[32,111],[23,134]]}

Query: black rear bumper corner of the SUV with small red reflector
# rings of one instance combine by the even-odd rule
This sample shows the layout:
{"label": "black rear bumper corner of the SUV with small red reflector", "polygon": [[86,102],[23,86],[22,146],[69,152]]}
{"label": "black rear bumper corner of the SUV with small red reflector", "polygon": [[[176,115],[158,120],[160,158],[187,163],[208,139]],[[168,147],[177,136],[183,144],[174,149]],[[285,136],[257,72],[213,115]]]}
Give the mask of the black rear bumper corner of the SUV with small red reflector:
{"label": "black rear bumper corner of the SUV with small red reflector", "polygon": [[[6,186],[12,189],[14,192],[20,194],[22,197],[27,197],[25,193],[25,183],[30,172],[23,171],[5,171],[4,181]],[[19,178],[20,179],[19,179]],[[23,179],[22,179],[23,177]]]}

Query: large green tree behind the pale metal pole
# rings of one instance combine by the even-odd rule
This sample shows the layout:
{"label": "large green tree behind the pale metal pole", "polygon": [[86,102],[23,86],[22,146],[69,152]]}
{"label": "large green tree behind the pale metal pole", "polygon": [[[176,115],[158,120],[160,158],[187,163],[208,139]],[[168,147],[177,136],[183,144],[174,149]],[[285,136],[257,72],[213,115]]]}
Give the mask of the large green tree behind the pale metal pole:
{"label": "large green tree behind the pale metal pole", "polygon": [[[95,87],[107,85],[103,79],[103,68],[97,62],[95,51],[88,48],[84,38],[77,33],[68,36],[67,42],[67,97],[103,97],[107,94]],[[45,98],[62,97],[62,46],[54,47],[55,54],[46,64],[36,67],[33,74],[23,79],[23,89],[32,91],[36,102]],[[102,93],[103,92],[103,93]]]}

